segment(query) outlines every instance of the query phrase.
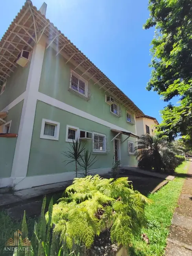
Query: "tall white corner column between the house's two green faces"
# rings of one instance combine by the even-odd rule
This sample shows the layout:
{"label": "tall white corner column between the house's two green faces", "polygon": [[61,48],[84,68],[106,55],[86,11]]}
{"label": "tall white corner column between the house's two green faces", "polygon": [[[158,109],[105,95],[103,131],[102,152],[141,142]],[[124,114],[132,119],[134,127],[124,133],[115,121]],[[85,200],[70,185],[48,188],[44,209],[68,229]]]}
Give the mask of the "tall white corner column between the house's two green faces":
{"label": "tall white corner column between the house's two green faces", "polygon": [[33,48],[11,172],[13,184],[23,180],[27,174],[45,45],[46,39],[42,37]]}

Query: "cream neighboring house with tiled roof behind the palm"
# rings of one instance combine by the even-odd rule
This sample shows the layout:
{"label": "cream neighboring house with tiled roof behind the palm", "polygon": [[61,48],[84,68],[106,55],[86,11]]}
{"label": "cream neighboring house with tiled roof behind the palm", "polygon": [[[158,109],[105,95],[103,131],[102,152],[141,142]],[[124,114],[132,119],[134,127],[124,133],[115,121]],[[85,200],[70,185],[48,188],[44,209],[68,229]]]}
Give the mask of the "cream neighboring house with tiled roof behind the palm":
{"label": "cream neighboring house with tiled roof behind the palm", "polygon": [[137,135],[151,134],[154,135],[156,126],[159,122],[155,117],[150,117],[149,115],[142,115],[136,117]]}

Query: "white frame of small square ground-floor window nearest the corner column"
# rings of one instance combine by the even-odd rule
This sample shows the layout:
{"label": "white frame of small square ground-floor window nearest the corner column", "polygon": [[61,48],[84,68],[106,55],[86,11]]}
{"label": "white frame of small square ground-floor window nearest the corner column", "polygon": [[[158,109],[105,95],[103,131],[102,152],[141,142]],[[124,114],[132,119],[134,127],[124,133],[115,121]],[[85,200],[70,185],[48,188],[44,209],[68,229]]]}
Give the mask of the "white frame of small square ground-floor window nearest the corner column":
{"label": "white frame of small square ground-floor window nearest the corner column", "polygon": [[[50,136],[50,135],[44,135],[44,128],[45,128],[45,124],[51,124],[55,126],[55,132],[54,132],[54,136]],[[55,122],[52,120],[48,120],[48,119],[42,119],[42,123],[41,123],[41,133],[40,133],[40,138],[41,139],[52,139],[54,141],[58,141],[59,140],[59,130],[60,130],[60,123],[59,122]]]}

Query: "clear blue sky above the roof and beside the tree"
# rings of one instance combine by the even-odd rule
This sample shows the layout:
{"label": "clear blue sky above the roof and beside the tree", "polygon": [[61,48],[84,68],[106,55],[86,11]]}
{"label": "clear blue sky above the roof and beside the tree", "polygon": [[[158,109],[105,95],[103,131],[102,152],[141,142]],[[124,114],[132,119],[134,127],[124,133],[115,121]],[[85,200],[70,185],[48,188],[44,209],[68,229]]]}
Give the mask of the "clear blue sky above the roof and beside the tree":
{"label": "clear blue sky above the roof and beside the tree", "polygon": [[[38,9],[43,1],[33,0]],[[0,37],[24,0],[1,2]],[[147,0],[46,0],[46,17],[54,23],[146,115],[161,121],[166,106],[156,92],[145,89],[150,79],[150,42],[154,29],[143,30],[149,16]],[[175,103],[175,100],[174,100]]]}

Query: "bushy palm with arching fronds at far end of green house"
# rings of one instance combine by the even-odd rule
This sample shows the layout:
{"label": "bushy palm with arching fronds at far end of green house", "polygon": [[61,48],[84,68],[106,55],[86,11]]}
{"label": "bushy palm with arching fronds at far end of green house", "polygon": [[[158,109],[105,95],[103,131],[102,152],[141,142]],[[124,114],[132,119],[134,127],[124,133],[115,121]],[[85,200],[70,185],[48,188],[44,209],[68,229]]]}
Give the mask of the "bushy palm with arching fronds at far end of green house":
{"label": "bushy palm with arching fronds at far end of green house", "polygon": [[178,165],[177,153],[173,143],[157,135],[141,135],[135,147],[138,167],[158,172],[174,172]]}

